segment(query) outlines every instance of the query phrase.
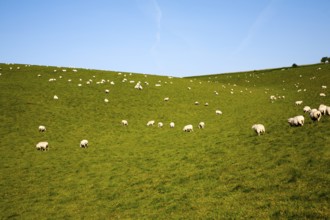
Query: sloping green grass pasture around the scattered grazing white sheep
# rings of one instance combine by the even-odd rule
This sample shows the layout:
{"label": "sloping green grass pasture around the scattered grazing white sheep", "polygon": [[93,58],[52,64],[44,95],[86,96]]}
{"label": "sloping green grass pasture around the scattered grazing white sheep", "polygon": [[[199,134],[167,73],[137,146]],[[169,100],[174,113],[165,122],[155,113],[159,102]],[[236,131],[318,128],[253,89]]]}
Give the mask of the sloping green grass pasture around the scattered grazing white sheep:
{"label": "sloping green grass pasture around the scattered grazing white sheep", "polygon": [[187,78],[0,68],[1,219],[330,218],[330,116],[302,110],[330,105],[330,64]]}

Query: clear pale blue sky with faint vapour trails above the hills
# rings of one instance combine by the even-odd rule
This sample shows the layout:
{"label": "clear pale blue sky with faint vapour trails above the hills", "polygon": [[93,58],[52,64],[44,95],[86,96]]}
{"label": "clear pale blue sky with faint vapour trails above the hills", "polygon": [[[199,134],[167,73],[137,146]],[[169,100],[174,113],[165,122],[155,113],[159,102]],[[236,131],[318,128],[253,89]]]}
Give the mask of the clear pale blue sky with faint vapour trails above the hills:
{"label": "clear pale blue sky with faint vapour trails above the hills", "polygon": [[0,0],[0,63],[177,77],[330,57],[329,0]]}

